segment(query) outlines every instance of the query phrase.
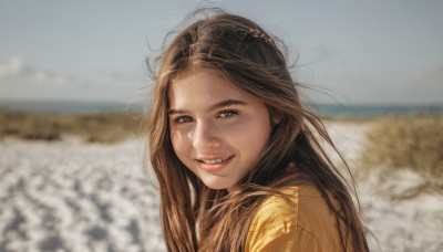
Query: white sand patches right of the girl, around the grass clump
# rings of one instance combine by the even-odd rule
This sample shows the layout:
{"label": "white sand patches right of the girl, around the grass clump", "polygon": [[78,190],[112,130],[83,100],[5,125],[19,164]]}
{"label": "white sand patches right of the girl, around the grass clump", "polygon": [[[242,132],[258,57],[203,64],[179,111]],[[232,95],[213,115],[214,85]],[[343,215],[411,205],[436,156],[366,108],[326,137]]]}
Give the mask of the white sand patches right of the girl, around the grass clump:
{"label": "white sand patches right of the girl, around the grass clump", "polygon": [[[356,159],[363,151],[362,143],[370,127],[368,124],[329,125],[331,137],[354,171],[359,169]],[[387,181],[380,182],[380,179]],[[420,176],[410,171],[394,178],[380,178],[372,174],[359,179],[363,218],[377,239],[369,238],[371,251],[443,251],[443,196],[421,195],[402,200],[380,196],[401,196],[423,182]]]}

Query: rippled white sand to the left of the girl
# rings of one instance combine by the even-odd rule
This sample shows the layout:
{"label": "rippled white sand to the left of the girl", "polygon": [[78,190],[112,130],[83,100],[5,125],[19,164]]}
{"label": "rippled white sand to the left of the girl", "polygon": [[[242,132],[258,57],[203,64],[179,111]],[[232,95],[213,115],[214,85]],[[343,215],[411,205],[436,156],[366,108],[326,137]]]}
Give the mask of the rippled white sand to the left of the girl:
{"label": "rippled white sand to the left of the girl", "polygon": [[0,251],[163,251],[143,145],[0,141]]}

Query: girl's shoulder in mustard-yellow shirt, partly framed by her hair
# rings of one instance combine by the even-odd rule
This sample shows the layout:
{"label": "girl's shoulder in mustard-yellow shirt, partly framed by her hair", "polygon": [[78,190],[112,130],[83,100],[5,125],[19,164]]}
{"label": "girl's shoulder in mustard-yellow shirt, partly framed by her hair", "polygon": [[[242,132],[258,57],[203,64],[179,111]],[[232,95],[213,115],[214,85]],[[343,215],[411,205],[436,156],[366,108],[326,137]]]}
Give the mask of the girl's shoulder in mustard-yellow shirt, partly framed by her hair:
{"label": "girl's shoulder in mustard-yellow shirt, partly framed by her hair", "polygon": [[246,251],[332,251],[339,238],[334,218],[316,187],[280,191],[287,197],[267,198],[254,216]]}

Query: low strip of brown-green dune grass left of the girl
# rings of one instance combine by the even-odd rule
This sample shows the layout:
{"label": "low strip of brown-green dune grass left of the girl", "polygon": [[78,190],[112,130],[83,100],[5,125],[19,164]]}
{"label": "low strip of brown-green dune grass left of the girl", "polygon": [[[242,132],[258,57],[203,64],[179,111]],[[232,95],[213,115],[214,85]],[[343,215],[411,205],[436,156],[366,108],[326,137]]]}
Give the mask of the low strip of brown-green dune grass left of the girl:
{"label": "low strip of brown-green dune grass left of the girl", "polygon": [[86,143],[112,144],[141,133],[143,118],[126,113],[48,114],[0,111],[0,139],[60,140],[76,135]]}

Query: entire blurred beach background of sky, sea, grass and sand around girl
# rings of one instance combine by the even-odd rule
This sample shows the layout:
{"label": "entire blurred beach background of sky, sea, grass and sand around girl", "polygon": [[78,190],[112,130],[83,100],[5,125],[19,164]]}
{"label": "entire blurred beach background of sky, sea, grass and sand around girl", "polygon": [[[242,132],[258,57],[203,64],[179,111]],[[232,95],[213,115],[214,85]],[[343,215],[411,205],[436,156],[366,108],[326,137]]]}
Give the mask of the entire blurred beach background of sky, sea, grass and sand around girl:
{"label": "entire blurred beach background of sky, sea, grass and sand around girl", "polygon": [[262,25],[320,91],[302,97],[356,176],[371,249],[442,251],[437,0],[0,0],[0,251],[164,251],[145,60],[198,7]]}

